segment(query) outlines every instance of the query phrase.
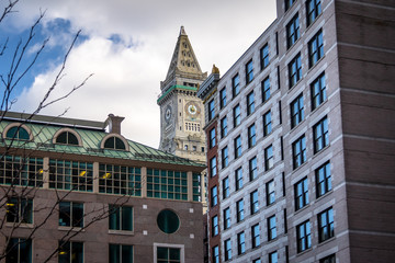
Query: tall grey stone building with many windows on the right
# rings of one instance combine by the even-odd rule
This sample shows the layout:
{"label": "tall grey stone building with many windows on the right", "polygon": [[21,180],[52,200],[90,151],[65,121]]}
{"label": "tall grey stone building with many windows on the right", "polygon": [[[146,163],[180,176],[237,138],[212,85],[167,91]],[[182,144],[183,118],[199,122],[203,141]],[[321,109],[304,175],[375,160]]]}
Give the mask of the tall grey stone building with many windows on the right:
{"label": "tall grey stone building with many windows on the right", "polygon": [[278,0],[205,101],[211,262],[395,258],[395,11]]}

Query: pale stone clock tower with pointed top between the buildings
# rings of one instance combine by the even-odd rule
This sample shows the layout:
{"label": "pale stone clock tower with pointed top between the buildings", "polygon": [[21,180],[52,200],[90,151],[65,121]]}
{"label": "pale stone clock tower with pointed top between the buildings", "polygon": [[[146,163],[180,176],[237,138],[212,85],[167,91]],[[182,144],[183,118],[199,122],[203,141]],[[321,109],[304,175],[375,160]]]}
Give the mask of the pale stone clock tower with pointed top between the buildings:
{"label": "pale stone clock tower with pointed top between the buildings", "polygon": [[196,92],[206,78],[181,26],[166,80],[160,82],[159,149],[204,164],[204,107]]}

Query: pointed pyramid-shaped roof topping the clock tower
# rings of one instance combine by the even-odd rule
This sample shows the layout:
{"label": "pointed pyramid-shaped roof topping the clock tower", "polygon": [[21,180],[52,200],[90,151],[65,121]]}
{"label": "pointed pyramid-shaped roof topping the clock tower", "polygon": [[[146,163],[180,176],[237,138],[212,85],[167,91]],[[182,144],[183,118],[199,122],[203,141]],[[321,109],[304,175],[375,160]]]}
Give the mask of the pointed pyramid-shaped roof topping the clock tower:
{"label": "pointed pyramid-shaped roof topping the clock tower", "polygon": [[202,70],[183,26],[176,44],[169,70],[163,82],[176,77],[202,78]]}

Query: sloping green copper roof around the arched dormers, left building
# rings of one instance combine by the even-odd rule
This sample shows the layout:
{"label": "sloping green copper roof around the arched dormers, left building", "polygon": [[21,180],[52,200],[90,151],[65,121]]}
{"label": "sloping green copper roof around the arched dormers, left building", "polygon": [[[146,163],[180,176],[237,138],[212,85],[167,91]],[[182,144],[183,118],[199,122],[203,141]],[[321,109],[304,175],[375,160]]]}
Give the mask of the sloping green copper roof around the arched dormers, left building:
{"label": "sloping green copper roof around the arched dormers, left building", "polygon": [[[12,121],[0,122],[1,138],[3,138],[2,133],[4,128],[11,123],[14,122]],[[0,147],[10,145],[12,142],[12,147],[31,149],[31,150],[97,156],[97,157],[106,157],[106,158],[120,158],[120,159],[128,159],[136,161],[159,162],[159,163],[180,164],[180,165],[204,167],[200,163],[190,161],[188,159],[179,158],[173,155],[127,139],[126,141],[129,146],[128,151],[101,149],[100,148],[101,141],[108,135],[108,133],[105,133],[103,129],[100,130],[100,129],[60,126],[58,123],[56,125],[40,124],[40,123],[38,124],[26,123],[24,125],[26,125],[26,127],[32,130],[33,141],[23,141],[23,140],[11,141],[9,139],[4,139],[0,144]],[[77,132],[81,137],[82,146],[53,144],[54,135],[64,127],[71,128],[72,130]]]}

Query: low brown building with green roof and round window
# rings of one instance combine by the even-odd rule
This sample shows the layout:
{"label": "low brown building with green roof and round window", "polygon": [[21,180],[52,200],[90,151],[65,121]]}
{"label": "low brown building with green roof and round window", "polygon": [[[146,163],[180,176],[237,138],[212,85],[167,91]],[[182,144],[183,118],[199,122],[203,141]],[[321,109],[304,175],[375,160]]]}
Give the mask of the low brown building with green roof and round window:
{"label": "low brown building with green roof and round window", "polygon": [[204,165],[126,139],[112,114],[1,116],[2,261],[203,261]]}

